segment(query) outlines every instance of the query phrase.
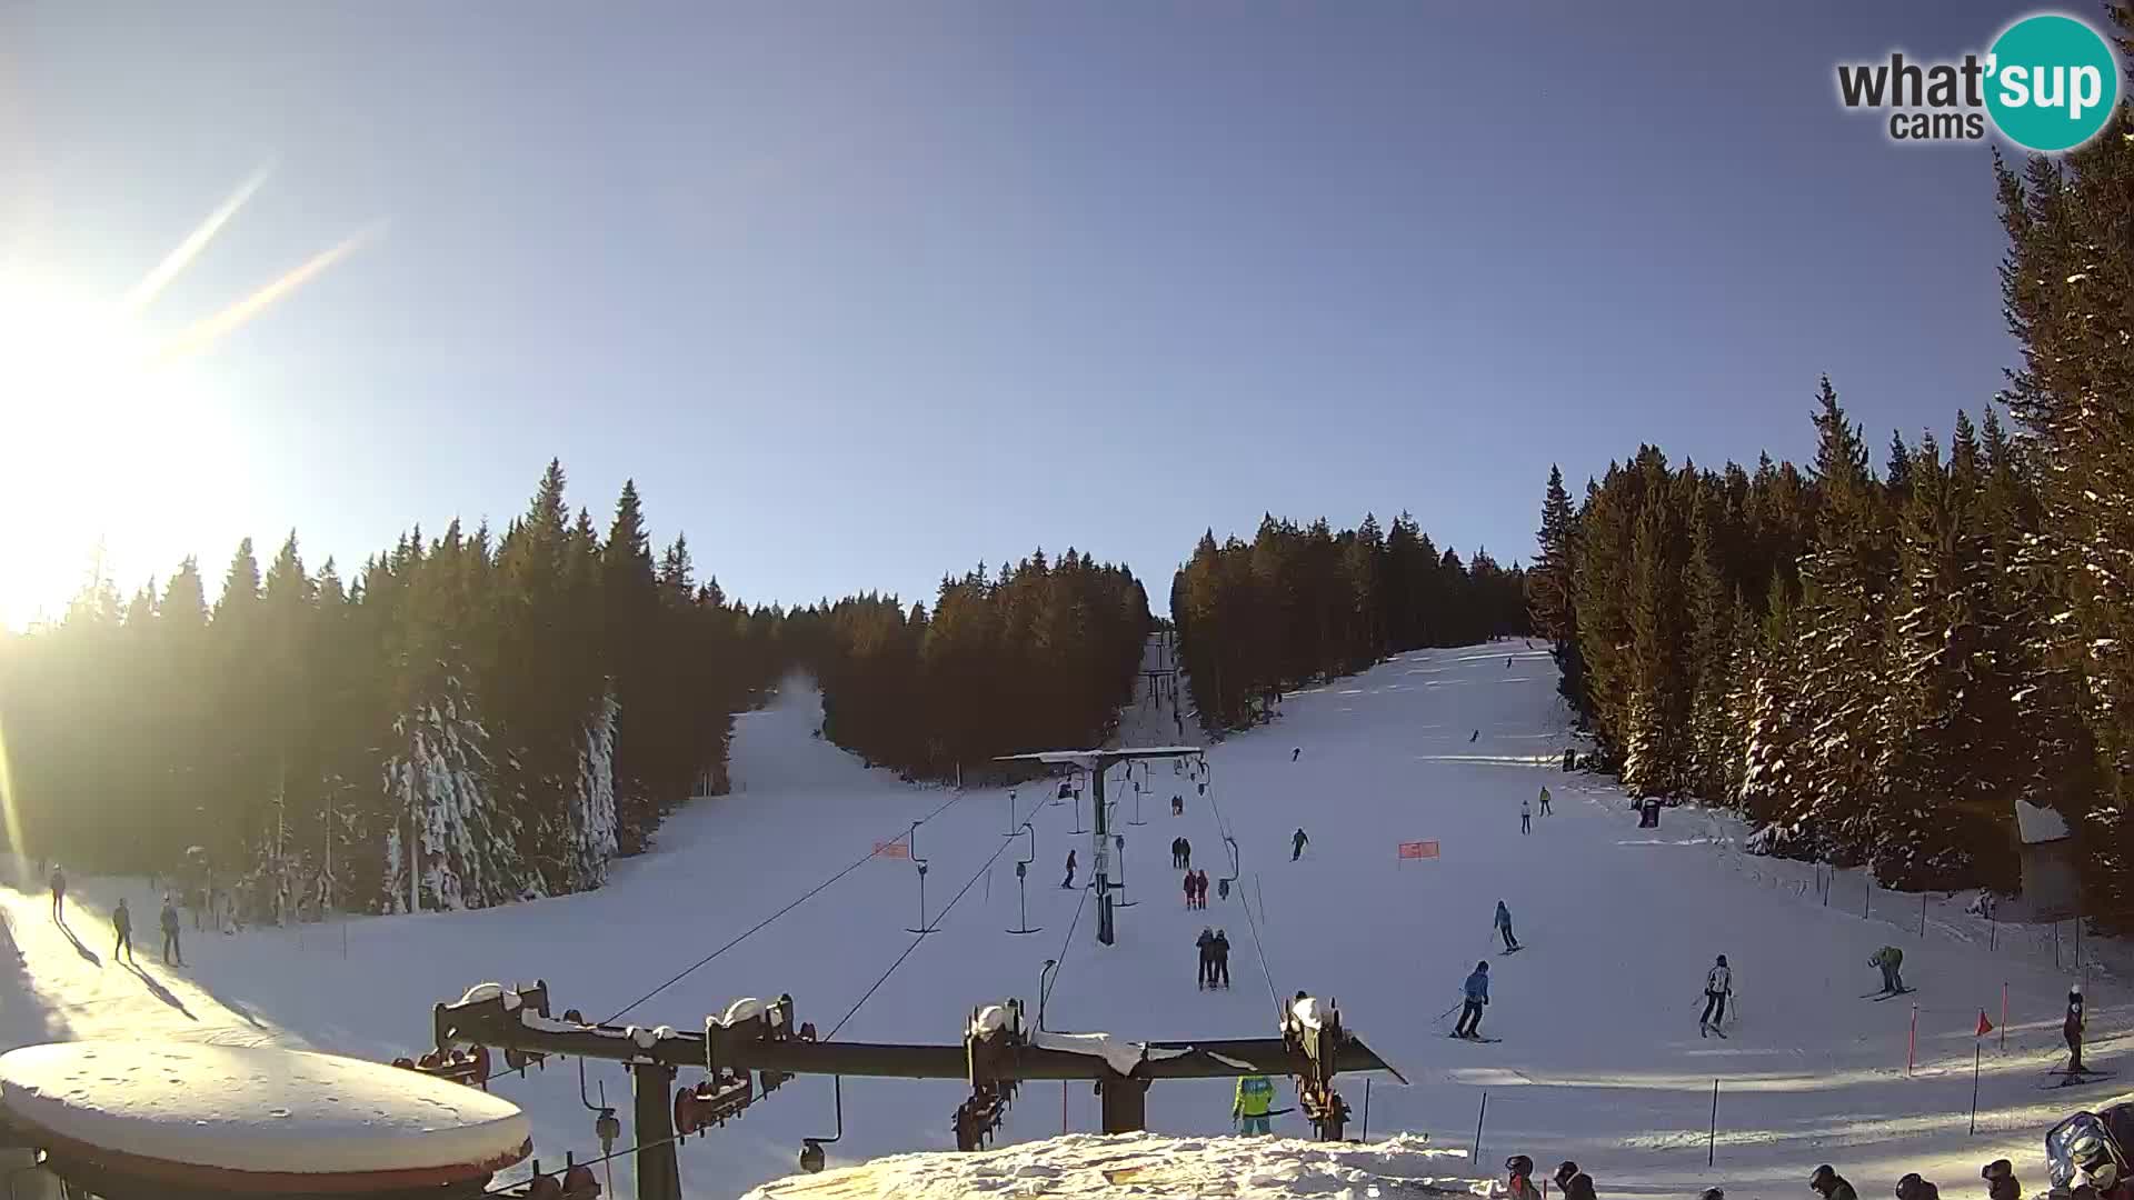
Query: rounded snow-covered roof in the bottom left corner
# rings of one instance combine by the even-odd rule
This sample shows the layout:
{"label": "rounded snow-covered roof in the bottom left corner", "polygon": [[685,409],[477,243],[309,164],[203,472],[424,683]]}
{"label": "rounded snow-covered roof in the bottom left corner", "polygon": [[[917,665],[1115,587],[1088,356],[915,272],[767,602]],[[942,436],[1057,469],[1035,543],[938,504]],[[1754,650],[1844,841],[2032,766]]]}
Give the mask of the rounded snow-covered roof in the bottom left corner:
{"label": "rounded snow-covered roof in the bottom left corner", "polygon": [[62,1042],[0,1055],[0,1104],[68,1142],[228,1172],[467,1168],[534,1151],[516,1104],[427,1074],[258,1046]]}

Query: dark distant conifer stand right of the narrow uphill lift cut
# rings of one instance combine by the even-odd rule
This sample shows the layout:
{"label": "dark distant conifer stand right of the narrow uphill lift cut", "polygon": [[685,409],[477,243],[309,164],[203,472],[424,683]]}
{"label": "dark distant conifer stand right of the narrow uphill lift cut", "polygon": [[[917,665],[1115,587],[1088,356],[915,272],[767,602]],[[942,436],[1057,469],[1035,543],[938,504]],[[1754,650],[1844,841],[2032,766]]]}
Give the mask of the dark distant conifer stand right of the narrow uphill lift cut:
{"label": "dark distant conifer stand right of the narrow uphill lift cut", "polygon": [[1438,553],[1415,517],[1334,532],[1263,517],[1251,542],[1201,534],[1172,579],[1172,621],[1210,730],[1263,720],[1287,690],[1387,653],[1528,632],[1526,572],[1477,549]]}

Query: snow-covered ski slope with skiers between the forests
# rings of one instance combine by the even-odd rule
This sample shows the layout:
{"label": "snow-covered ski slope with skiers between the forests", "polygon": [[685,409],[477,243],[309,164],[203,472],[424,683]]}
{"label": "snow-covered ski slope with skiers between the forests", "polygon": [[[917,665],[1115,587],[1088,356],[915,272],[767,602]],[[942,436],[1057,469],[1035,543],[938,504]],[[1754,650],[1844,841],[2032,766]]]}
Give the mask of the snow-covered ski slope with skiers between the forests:
{"label": "snow-covered ski slope with skiers between the forests", "polygon": [[[1135,799],[1114,773],[1135,903],[1118,912],[1112,948],[1095,944],[1086,893],[1058,886],[1069,846],[1088,869],[1088,837],[1069,833],[1071,805],[1046,803],[1050,788],[1022,788],[1009,816],[1005,790],[958,794],[864,771],[815,739],[817,724],[819,705],[805,688],[740,717],[734,794],[679,814],[653,854],[617,863],[610,886],[593,895],[237,937],[201,937],[188,922],[190,967],[177,972],[152,963],[156,897],[141,880],[77,880],[98,912],[130,888],[149,950],[134,974],[109,963],[109,929],[90,914],[70,920],[75,946],[51,925],[43,895],[0,893],[28,954],[0,980],[0,1036],[13,1046],[132,1031],[393,1057],[425,1044],[435,1001],[482,980],[531,978],[548,980],[557,1010],[608,1016],[860,863],[627,1019],[696,1027],[734,997],[792,993],[798,1019],[824,1038],[834,1029],[847,1040],[958,1042],[971,1006],[1018,995],[1035,1014],[1041,963],[1058,959],[1050,1029],[1272,1036],[1272,997],[1306,989],[1336,999],[1349,1027],[1413,1080],[1370,1085],[1374,1138],[1413,1132],[1468,1149],[1487,1091],[1479,1174],[1496,1174],[1511,1153],[1543,1168],[1573,1157],[1603,1194],[1694,1196],[1724,1185],[1737,1198],[1799,1196],[1820,1162],[1863,1194],[1886,1194],[1908,1170],[1963,1191],[1991,1157],[2014,1159],[2038,1191],[2042,1130],[2111,1093],[2040,1091],[2059,1057],[2070,980],[2053,965],[2049,935],[2010,937],[2002,927],[1989,950],[1987,927],[1963,916],[1968,897],[1957,897],[1927,905],[1921,937],[1918,897],[1865,897],[1857,875],[1840,873],[1825,905],[1807,865],[1731,850],[1743,831],[1729,818],[1669,809],[1660,828],[1637,828],[1613,786],[1558,769],[1571,735],[1556,673],[1519,641],[1406,653],[1291,694],[1272,726],[1210,747],[1210,796],[1167,762],[1152,764],[1140,803],[1146,824],[1125,824]],[[1127,737],[1165,726],[1167,711],[1135,717]],[[1291,760],[1293,752],[1302,754]],[[1532,835],[1522,835],[1519,801],[1543,784],[1556,811],[1536,811]],[[1174,788],[1187,796],[1178,820]],[[939,931],[913,946],[913,865],[866,856],[928,816],[915,850],[928,860],[926,922]],[[1005,933],[1018,922],[1014,860],[1024,846],[1005,833],[1022,820],[1035,831],[1029,920],[1041,927],[1026,937]],[[1291,863],[1297,826],[1310,848]],[[1189,837],[1195,863],[1219,878],[1225,828],[1242,850],[1242,890],[1184,912],[1169,839]],[[1400,860],[1396,846],[1415,839],[1438,841],[1440,858]],[[1519,954],[1496,952],[1498,899],[1526,944]],[[1231,991],[1193,986],[1204,925],[1229,931]],[[1904,948],[1914,995],[1861,997],[1878,986],[1867,954],[1882,944]],[[1699,991],[1720,952],[1733,963],[1741,1016],[1731,1038],[1705,1040]],[[2119,948],[2085,952],[2117,961]],[[1496,1044],[1447,1038],[1447,1010],[1479,959],[1494,980],[1483,1033],[1502,1038]],[[2111,980],[2104,965],[2091,967],[2089,1059],[2106,1068],[2123,1059],[2117,1031],[2130,1010]],[[2004,982],[2014,1027],[2006,1053],[1997,1038],[1985,1040],[1978,1134],[1968,1136],[1974,1023],[1980,1010],[2000,1023]],[[1912,1001],[1918,1065],[1908,1072]],[[621,1068],[589,1063],[587,1080],[589,1091],[606,1085],[627,1125]],[[1716,1166],[1705,1168],[1714,1080]],[[546,1164],[566,1151],[598,1153],[574,1063],[495,1089],[525,1106]],[[1361,1117],[1366,1080],[1351,1076],[1342,1089]],[[1150,1132],[1223,1134],[1229,1095],[1229,1080],[1159,1083],[1148,1093]],[[847,1080],[845,1136],[826,1147],[830,1162],[947,1149],[960,1100],[952,1080]],[[1280,1083],[1276,1106],[1289,1104],[1293,1091]],[[1001,1142],[1063,1127],[1097,1127],[1090,1089],[1026,1085]],[[1308,1136],[1295,1115],[1278,1117],[1276,1130]],[[830,1080],[792,1080],[732,1125],[689,1140],[685,1185],[691,1196],[738,1196],[787,1174],[802,1136],[832,1132]],[[630,1159],[612,1166],[627,1187]]]}

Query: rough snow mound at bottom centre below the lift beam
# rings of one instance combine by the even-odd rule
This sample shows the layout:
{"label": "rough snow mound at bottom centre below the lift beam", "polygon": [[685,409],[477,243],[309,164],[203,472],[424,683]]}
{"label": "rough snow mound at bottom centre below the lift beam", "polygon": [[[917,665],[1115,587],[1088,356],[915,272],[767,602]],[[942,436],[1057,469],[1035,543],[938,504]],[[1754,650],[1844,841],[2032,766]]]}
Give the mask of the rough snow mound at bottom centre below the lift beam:
{"label": "rough snow mound at bottom centre below the lift beam", "polygon": [[1293,1138],[1165,1138],[1069,1134],[982,1153],[920,1153],[796,1174],[743,1200],[1142,1196],[1289,1200],[1327,1196],[1468,1196],[1466,1153],[1398,1136],[1372,1144]]}

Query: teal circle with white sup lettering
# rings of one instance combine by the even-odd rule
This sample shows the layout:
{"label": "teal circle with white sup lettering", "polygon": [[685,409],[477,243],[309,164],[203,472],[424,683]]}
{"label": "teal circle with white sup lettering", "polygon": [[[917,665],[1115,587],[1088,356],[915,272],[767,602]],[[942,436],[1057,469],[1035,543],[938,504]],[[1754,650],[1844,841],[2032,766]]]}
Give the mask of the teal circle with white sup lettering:
{"label": "teal circle with white sup lettering", "polygon": [[1987,58],[1987,111],[2002,135],[2040,154],[2074,149],[2111,120],[2119,60],[2087,23],[2040,13],[2002,30]]}

